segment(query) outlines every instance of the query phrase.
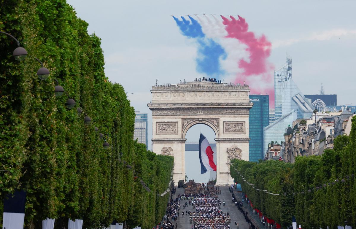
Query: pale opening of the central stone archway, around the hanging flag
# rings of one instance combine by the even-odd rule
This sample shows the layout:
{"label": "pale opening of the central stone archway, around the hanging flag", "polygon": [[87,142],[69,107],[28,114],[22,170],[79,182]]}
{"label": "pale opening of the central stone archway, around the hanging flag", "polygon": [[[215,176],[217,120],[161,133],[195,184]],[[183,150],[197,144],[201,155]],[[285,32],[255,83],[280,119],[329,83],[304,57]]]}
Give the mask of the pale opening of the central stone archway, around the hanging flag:
{"label": "pale opening of the central stone archway, around the hanging flag", "polygon": [[205,124],[195,124],[190,127],[185,134],[185,175],[186,181],[194,179],[195,182],[207,183],[216,179],[216,171],[200,173],[199,160],[199,137],[202,133],[208,139],[211,149],[214,151],[214,162],[216,164],[216,142],[215,132],[210,126]]}

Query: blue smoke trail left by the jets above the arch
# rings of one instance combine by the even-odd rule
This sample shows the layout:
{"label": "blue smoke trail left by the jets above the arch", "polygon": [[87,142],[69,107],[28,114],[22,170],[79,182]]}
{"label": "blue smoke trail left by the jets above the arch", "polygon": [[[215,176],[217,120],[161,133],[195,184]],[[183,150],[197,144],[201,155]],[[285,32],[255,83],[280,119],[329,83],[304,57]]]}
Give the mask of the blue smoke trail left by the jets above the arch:
{"label": "blue smoke trail left by the jets above the arch", "polygon": [[213,39],[206,38],[201,25],[193,17],[188,16],[190,21],[181,16],[182,21],[173,16],[177,26],[184,36],[195,38],[198,43],[197,71],[207,77],[218,78],[225,72],[220,68],[219,59],[226,58],[226,52]]}

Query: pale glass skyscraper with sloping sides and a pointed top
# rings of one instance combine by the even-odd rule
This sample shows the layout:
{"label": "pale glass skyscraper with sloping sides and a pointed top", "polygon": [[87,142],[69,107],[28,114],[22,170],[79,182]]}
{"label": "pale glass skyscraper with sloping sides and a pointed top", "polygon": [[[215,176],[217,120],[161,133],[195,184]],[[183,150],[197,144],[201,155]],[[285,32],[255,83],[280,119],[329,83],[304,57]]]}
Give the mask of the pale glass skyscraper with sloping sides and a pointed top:
{"label": "pale glass skyscraper with sloping sides and a pointed top", "polygon": [[312,102],[304,97],[292,79],[292,59],[274,71],[274,121],[263,128],[263,150],[268,143],[284,141],[284,132],[296,119],[309,119],[313,113]]}

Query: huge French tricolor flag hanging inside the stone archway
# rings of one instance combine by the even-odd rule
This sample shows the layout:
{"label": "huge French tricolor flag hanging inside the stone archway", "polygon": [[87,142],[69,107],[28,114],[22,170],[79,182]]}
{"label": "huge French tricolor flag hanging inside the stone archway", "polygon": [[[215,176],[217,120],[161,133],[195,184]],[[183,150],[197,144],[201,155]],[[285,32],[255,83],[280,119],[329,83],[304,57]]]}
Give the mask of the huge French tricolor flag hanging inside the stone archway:
{"label": "huge French tricolor flag hanging inside the stone archway", "polygon": [[208,142],[208,139],[200,133],[199,139],[199,160],[200,160],[200,170],[201,174],[207,171],[216,171],[216,165],[214,163],[214,152]]}

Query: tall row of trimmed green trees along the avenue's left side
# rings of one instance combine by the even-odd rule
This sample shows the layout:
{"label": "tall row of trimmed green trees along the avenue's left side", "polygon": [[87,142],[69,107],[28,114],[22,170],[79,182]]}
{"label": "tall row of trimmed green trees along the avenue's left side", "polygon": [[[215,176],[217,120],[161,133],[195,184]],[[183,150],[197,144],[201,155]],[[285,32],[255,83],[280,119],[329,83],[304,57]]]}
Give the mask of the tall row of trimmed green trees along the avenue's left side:
{"label": "tall row of trimmed green trees along the avenue's left side", "polygon": [[[105,77],[100,38],[87,26],[65,0],[0,1],[0,30],[29,53],[17,62],[16,43],[0,36],[0,199],[25,190],[30,228],[47,217],[83,219],[84,228],[113,220],[150,228],[165,211],[168,195],[157,194],[167,188],[173,157],[133,141],[134,110],[124,88]],[[51,72],[47,80],[37,78],[35,57]],[[55,97],[54,79],[91,124],[66,108],[67,96]],[[2,208],[0,201],[0,222]]]}

